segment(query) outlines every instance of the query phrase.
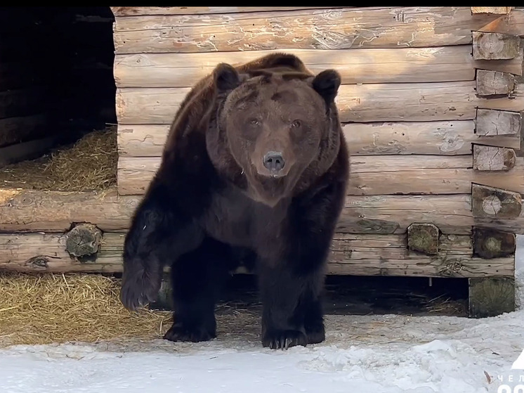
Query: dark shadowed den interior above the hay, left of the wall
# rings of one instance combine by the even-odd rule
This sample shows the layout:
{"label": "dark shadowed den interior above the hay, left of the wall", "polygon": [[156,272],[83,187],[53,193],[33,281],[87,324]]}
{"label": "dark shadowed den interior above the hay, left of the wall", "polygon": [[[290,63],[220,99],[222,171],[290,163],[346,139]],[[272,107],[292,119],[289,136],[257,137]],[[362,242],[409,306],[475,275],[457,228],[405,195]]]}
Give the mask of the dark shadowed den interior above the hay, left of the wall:
{"label": "dark shadowed den interior above the hay, left of the wall", "polygon": [[0,8],[0,165],[115,122],[113,20],[108,7]]}

